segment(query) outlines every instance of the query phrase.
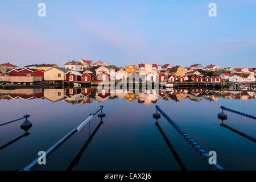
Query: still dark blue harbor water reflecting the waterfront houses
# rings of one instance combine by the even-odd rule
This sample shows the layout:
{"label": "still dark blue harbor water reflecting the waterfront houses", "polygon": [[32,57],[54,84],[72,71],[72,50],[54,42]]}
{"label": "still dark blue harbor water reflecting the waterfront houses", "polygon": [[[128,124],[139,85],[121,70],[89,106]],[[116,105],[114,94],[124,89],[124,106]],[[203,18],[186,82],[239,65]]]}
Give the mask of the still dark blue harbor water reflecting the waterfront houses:
{"label": "still dark blue harbor water reflecting the waterfront houses", "polygon": [[[205,151],[216,151],[217,162],[227,170],[256,170],[256,123],[230,113],[221,126],[220,106],[256,115],[256,93],[228,90],[0,89],[1,123],[29,114],[24,121],[0,126],[0,170],[26,167],[101,105],[97,115],[34,170],[180,170],[152,113],[155,105],[172,118]],[[187,170],[212,170],[161,116],[160,129]],[[97,131],[94,130],[98,127]],[[242,133],[242,135],[241,135]],[[93,135],[90,142],[89,137]],[[254,139],[250,140],[245,137]],[[86,143],[87,142],[87,143]]]}

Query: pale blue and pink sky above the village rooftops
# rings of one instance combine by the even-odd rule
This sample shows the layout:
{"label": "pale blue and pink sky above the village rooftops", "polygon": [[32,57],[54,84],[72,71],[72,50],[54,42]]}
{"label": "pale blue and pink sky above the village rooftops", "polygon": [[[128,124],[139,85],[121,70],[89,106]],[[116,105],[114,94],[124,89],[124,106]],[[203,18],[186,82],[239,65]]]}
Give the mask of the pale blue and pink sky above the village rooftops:
{"label": "pale blue and pink sky above the village rooftops", "polygon": [[256,0],[0,1],[0,63],[79,59],[256,68]]}

